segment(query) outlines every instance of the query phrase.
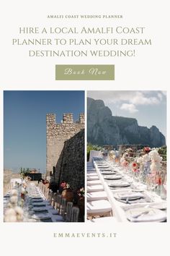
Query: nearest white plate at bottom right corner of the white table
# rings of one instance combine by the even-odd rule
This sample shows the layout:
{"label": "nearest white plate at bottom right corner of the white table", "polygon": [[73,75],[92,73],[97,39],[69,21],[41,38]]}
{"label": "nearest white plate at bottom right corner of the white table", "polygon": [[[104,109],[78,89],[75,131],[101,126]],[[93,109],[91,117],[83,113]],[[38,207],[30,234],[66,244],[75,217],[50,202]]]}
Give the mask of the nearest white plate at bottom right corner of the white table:
{"label": "nearest white plate at bottom right corner of the white table", "polygon": [[[128,220],[132,222],[166,221],[166,213],[162,210],[153,208],[132,208],[127,210],[126,216]],[[138,216],[138,218],[136,218],[136,216]]]}

